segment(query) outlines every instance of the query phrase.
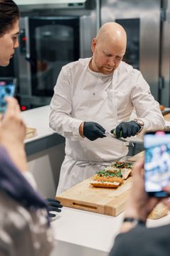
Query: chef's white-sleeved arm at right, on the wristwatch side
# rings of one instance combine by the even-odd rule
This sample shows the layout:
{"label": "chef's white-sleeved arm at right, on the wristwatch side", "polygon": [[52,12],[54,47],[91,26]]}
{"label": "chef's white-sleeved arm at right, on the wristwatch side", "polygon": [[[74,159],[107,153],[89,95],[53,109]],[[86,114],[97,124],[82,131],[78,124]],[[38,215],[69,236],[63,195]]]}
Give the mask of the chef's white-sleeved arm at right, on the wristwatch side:
{"label": "chef's white-sleeved arm at right, on the wristwatch side", "polygon": [[135,107],[137,118],[144,123],[143,134],[148,129],[164,129],[164,117],[159,109],[159,103],[154,100],[149,85],[142,77],[142,74],[135,70],[132,75],[132,82],[135,82],[135,90],[132,92],[132,103]]}

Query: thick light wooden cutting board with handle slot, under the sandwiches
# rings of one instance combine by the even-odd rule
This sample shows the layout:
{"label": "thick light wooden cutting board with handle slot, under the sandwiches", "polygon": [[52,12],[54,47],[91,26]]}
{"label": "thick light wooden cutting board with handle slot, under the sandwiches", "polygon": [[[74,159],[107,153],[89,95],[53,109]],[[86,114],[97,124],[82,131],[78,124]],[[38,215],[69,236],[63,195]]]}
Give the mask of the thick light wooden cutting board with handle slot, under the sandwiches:
{"label": "thick light wooden cutting board with handle slot, under the sandwiches", "polygon": [[63,206],[111,216],[117,216],[125,210],[132,186],[131,176],[118,188],[94,188],[90,181],[91,178],[88,178],[69,188],[56,196],[57,200]]}

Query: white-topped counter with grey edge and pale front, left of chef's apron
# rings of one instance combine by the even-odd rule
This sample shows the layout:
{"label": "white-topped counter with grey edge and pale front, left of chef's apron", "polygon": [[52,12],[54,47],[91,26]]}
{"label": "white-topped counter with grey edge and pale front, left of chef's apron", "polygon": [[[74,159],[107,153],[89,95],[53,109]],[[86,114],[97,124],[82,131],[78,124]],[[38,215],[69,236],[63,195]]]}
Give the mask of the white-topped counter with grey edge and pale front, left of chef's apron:
{"label": "white-topped counter with grey edge and pale front, left of chef's apron", "polygon": [[37,130],[35,137],[25,141],[28,169],[35,177],[42,196],[54,197],[64,159],[64,137],[48,126],[49,105],[21,114],[26,126]]}

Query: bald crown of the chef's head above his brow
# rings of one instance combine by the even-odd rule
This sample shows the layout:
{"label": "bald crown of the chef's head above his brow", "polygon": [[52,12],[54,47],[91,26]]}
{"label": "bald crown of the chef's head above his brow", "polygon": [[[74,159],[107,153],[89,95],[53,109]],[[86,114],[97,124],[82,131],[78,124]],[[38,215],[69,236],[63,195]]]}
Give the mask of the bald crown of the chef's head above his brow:
{"label": "bald crown of the chef's head above his brow", "polygon": [[96,36],[98,42],[111,41],[126,48],[127,36],[123,26],[115,22],[103,24]]}

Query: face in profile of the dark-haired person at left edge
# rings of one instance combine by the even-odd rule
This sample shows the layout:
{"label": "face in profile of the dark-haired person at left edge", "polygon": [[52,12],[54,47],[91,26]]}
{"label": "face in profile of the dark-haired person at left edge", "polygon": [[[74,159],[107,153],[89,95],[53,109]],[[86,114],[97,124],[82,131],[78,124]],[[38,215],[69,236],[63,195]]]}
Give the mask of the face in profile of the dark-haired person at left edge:
{"label": "face in profile of the dark-haired person at left edge", "polygon": [[15,49],[19,46],[18,33],[19,23],[17,20],[13,23],[12,28],[0,37],[0,65],[3,67],[9,64],[10,59],[15,53]]}

